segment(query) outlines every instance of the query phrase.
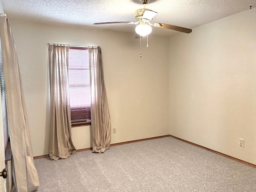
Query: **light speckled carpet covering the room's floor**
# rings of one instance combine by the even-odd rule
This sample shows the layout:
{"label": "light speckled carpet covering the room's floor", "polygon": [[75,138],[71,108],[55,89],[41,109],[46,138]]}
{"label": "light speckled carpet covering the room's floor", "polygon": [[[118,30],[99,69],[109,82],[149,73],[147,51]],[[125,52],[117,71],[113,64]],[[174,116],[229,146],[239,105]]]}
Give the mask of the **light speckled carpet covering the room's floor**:
{"label": "light speckled carpet covering the room's floor", "polygon": [[256,192],[256,168],[171,137],[34,164],[39,192]]}

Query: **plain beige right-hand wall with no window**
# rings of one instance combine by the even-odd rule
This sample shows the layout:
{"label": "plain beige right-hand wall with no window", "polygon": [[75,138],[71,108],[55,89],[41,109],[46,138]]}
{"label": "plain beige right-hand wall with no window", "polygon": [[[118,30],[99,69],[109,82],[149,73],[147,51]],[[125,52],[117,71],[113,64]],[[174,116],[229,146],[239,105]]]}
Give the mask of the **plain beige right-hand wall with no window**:
{"label": "plain beige right-hand wall with no window", "polygon": [[170,134],[253,164],[255,18],[252,9],[178,34],[169,52]]}

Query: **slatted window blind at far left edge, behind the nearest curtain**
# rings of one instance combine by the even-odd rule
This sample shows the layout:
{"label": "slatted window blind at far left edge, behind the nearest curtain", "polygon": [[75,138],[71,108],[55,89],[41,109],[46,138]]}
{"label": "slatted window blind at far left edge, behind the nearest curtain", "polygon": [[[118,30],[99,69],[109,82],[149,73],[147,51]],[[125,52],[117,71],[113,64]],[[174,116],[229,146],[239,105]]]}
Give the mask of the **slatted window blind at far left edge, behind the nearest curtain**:
{"label": "slatted window blind at far left edge, behind the nearest curtain", "polygon": [[4,83],[4,66],[2,57],[2,46],[0,38],[0,84],[1,84],[1,104],[2,104],[2,118],[3,118],[3,129],[4,129],[4,148],[6,149],[8,142],[8,114],[7,114],[7,103],[6,103],[6,91]]}

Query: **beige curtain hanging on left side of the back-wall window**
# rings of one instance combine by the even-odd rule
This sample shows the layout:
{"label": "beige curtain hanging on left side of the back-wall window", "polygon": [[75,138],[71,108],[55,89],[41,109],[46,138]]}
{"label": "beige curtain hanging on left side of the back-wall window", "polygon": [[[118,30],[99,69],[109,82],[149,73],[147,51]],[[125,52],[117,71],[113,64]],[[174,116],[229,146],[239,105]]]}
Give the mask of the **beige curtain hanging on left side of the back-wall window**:
{"label": "beige curtain hanging on left side of the back-wall window", "polygon": [[50,78],[50,141],[52,160],[69,158],[76,152],[71,138],[71,118],[68,89],[68,47],[49,45]]}

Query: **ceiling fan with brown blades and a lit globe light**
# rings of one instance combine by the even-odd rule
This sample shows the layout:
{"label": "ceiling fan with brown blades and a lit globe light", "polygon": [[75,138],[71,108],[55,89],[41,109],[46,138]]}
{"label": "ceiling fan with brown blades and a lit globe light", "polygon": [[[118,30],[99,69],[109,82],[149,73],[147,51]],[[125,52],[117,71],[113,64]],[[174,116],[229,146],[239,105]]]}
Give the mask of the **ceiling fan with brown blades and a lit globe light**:
{"label": "ceiling fan with brown blades and a lit globe light", "polygon": [[164,23],[153,23],[153,24],[150,23],[150,21],[154,18],[154,16],[156,16],[157,12],[154,12],[150,9],[146,9],[146,4],[150,0],[140,0],[140,1],[144,4],[144,8],[138,9],[135,11],[135,19],[137,20],[137,22],[129,22],[129,21],[104,22],[104,23],[94,23],[94,25],[120,24],[120,23],[138,24],[135,28],[135,31],[136,31],[135,38],[140,38],[141,36],[146,36],[146,35],[150,34],[152,32],[151,26],[171,29],[171,30],[180,31],[180,32],[184,32],[184,33],[192,32],[192,29],[179,27],[179,26],[175,26],[175,25],[169,25],[169,24],[164,24]]}

